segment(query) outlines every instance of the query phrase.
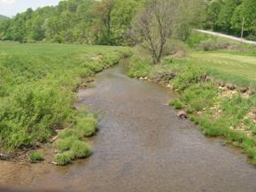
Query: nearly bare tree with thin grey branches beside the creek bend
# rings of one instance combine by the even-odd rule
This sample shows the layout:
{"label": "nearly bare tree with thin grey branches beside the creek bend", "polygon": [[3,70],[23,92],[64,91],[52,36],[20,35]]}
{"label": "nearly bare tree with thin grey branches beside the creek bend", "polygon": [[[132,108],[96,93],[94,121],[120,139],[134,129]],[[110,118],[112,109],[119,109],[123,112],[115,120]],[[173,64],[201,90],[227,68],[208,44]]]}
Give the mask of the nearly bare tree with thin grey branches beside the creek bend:
{"label": "nearly bare tree with thin grey branches beside the creek bend", "polygon": [[150,51],[153,64],[159,63],[167,39],[174,32],[177,0],[151,0],[135,19],[136,37]]}

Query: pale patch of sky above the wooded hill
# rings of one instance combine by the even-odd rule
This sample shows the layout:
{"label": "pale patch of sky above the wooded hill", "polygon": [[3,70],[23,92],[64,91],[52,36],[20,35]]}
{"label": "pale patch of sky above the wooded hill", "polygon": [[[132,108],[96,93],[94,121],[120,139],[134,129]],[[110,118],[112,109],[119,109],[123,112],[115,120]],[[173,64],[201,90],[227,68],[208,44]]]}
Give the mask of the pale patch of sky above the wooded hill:
{"label": "pale patch of sky above the wooded hill", "polygon": [[56,5],[60,0],[0,0],[0,14],[8,17],[15,16],[18,12],[25,12],[27,8],[46,5]]}

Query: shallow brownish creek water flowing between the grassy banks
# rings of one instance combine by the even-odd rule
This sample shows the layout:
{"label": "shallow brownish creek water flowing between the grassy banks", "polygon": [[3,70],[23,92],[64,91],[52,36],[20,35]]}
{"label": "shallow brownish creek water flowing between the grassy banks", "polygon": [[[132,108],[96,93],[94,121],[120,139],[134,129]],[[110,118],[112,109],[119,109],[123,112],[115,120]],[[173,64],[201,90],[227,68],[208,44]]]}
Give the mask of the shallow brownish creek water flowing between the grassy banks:
{"label": "shallow brownish creek water flowing between the grassy banks", "polygon": [[0,185],[88,192],[255,192],[256,169],[167,106],[174,93],[117,65],[80,90],[102,114],[94,154],[74,165],[0,162]]}

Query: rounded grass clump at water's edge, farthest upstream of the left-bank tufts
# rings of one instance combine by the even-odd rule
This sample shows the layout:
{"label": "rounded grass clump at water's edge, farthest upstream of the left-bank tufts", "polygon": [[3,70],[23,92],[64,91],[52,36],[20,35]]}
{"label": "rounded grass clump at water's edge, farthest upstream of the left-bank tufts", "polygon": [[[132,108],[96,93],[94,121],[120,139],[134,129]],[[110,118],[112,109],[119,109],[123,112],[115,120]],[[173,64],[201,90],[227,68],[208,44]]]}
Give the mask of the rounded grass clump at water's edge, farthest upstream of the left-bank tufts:
{"label": "rounded grass clump at water's edge, farthest upstream of the left-bank tufts", "polygon": [[97,131],[98,122],[93,117],[82,117],[77,119],[76,127],[83,136],[91,136]]}

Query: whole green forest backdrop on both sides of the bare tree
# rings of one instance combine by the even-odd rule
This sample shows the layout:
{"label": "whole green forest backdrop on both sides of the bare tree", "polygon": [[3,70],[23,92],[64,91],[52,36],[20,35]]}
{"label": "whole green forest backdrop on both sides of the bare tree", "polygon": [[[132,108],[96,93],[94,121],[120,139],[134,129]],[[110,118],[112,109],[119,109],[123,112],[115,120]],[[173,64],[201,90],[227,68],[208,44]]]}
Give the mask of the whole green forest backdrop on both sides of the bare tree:
{"label": "whole green forest backdrop on both sides of the bare tree", "polygon": [[[170,0],[179,4],[176,35],[185,39],[190,27],[200,27],[256,39],[254,0]],[[27,9],[12,19],[0,19],[0,40],[18,42],[77,42],[131,45],[133,20],[147,0],[65,0],[57,6]],[[193,13],[193,14],[191,14]],[[172,15],[172,12],[169,13]]]}

